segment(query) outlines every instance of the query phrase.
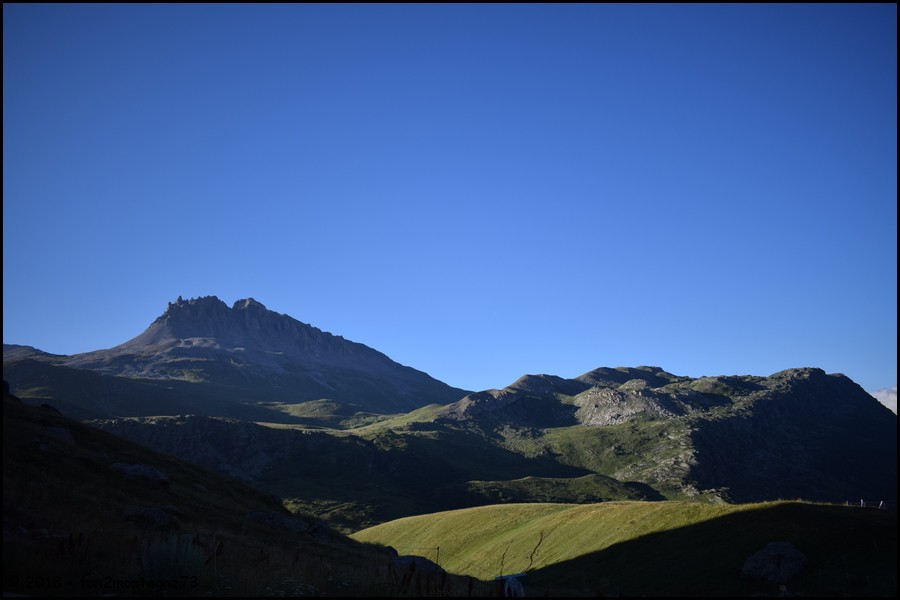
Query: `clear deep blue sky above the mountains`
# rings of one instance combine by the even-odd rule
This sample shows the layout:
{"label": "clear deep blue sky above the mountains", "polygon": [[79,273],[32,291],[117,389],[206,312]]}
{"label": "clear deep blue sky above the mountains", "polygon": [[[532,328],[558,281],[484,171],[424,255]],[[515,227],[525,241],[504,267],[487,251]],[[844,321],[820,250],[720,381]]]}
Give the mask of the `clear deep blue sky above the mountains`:
{"label": "clear deep blue sky above the mountains", "polygon": [[3,6],[3,341],[254,297],[468,389],[897,383],[897,7]]}

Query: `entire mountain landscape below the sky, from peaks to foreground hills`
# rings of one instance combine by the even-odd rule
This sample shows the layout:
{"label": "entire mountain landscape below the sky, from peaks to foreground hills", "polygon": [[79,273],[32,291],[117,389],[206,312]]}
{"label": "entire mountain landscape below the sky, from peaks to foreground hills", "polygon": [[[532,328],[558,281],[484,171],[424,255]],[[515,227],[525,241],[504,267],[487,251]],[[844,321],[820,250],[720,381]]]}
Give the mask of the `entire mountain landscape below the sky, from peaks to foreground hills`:
{"label": "entire mountain landscape below the sky, from peaks to foreground hills", "polygon": [[[104,518],[143,544],[109,569],[187,553],[196,595],[487,595],[516,571],[529,595],[896,595],[897,417],[817,368],[600,367],[470,391],[210,296],[178,298],[106,350],[4,344],[3,378],[4,573],[82,569],[64,595],[108,574],[87,550],[113,543],[92,533]],[[247,541],[271,528],[293,542]],[[230,549],[256,560],[254,544],[254,564],[290,555],[280,587],[210,575]],[[327,548],[321,569],[298,566],[298,544]]]}

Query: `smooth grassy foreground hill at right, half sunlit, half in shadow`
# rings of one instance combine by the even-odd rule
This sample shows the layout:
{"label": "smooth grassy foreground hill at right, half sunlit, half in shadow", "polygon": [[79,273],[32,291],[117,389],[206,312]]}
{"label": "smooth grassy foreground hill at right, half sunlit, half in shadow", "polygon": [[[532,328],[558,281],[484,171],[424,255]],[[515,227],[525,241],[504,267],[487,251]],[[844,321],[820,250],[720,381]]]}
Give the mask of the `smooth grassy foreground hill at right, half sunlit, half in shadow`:
{"label": "smooth grassy foreground hill at right, half sunlit, half in shadow", "polygon": [[[769,542],[807,555],[790,583],[807,595],[896,594],[896,511],[801,502],[495,505],[398,519],[352,536],[481,578],[527,572],[573,594],[731,595],[777,591],[741,575]],[[439,549],[439,550],[438,550]]]}

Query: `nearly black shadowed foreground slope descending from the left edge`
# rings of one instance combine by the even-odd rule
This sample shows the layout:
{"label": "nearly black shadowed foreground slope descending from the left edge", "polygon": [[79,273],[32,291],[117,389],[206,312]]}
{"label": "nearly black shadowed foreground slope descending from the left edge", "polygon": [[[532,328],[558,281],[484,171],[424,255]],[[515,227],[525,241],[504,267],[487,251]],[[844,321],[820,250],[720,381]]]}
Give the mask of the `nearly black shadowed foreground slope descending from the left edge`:
{"label": "nearly black shadowed foreground slope descending from the left edge", "polygon": [[6,393],[3,576],[4,596],[495,592]]}

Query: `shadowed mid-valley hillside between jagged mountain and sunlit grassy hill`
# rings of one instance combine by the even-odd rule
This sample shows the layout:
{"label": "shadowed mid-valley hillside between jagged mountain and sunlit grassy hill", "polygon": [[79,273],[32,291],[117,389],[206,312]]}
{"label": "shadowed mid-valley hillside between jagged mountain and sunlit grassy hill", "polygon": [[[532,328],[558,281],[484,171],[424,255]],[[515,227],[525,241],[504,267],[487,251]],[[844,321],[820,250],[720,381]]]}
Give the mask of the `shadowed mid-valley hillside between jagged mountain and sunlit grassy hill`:
{"label": "shadowed mid-valley hillside between jagged mountain and sunlit grassy hill", "polygon": [[476,433],[435,426],[366,436],[183,416],[90,421],[288,499],[345,530],[409,514],[511,500],[662,499],[551,457],[525,457]]}

